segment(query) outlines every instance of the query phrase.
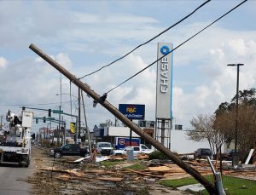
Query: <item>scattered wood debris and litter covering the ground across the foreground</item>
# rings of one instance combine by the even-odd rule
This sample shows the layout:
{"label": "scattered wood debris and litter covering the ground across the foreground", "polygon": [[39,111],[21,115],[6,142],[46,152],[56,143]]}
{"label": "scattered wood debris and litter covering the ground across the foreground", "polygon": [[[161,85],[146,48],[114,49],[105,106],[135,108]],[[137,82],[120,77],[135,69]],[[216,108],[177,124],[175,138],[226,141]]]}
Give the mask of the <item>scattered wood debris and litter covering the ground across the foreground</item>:
{"label": "scattered wood debris and litter covering the ground across the foreground", "polygon": [[[38,172],[30,182],[36,186],[35,194],[172,194],[170,189],[159,186],[160,180],[173,180],[190,177],[183,169],[170,160],[151,160],[148,155],[139,155],[132,163],[126,162],[125,156],[99,156],[86,158],[34,158]],[[138,160],[140,159],[140,160]],[[114,161],[112,166],[102,166],[102,161]],[[53,163],[55,162],[55,163]],[[134,170],[129,166],[142,163],[146,169]],[[188,160],[201,175],[212,175],[212,170],[205,159]],[[54,166],[53,166],[54,164]],[[219,169],[219,162],[216,169]],[[234,169],[228,162],[223,162],[223,174],[234,177],[256,178],[255,165]],[[156,187],[157,186],[157,187]],[[161,189],[160,191],[156,190]],[[188,192],[181,192],[180,194]],[[159,194],[159,193],[158,193]]]}

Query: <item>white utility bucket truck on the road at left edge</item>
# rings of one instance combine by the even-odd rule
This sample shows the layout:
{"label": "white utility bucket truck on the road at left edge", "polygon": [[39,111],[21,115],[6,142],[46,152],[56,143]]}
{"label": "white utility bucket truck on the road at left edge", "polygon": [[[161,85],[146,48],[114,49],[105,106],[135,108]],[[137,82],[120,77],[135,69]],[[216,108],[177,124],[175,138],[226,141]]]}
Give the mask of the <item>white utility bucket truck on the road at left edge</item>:
{"label": "white utility bucket truck on the road at left edge", "polygon": [[19,163],[28,167],[31,158],[31,127],[33,112],[22,110],[20,115],[7,112],[9,128],[0,137],[0,163]]}

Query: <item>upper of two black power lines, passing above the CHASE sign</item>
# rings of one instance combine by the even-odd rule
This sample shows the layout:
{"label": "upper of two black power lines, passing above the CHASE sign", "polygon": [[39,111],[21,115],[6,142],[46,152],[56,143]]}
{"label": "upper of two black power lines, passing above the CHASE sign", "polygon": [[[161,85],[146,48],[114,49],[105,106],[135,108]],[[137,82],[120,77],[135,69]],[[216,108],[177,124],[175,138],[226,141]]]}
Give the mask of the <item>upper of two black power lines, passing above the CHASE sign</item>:
{"label": "upper of two black power lines, passing above the CHASE sign", "polygon": [[211,1],[211,0],[207,0],[205,3],[202,3],[202,4],[201,4],[197,9],[195,9],[193,12],[191,12],[191,13],[188,14],[187,16],[183,17],[183,19],[177,21],[174,25],[172,25],[172,26],[166,28],[165,31],[160,32],[158,35],[156,35],[156,36],[150,38],[150,39],[149,39],[148,41],[146,41],[145,43],[142,43],[142,44],[138,45],[135,49],[132,49],[132,50],[131,50],[130,52],[128,52],[127,54],[123,55],[122,57],[119,57],[119,59],[113,60],[113,62],[109,63],[108,65],[102,66],[101,68],[97,69],[96,71],[90,72],[89,74],[86,74],[86,75],[84,75],[83,77],[79,77],[79,79],[82,79],[82,78],[84,78],[84,77],[90,76],[90,75],[92,75],[92,74],[94,74],[94,73],[96,73],[96,72],[101,71],[103,68],[108,67],[108,66],[111,66],[111,65],[113,65],[113,63],[115,63],[115,62],[117,62],[117,61],[119,61],[119,60],[124,59],[127,55],[131,54],[131,53],[132,53],[133,51],[135,51],[136,49],[138,49],[138,48],[142,47],[143,45],[145,45],[145,44],[147,44],[147,43],[153,41],[155,38],[160,37],[160,35],[162,35],[163,33],[167,32],[167,31],[169,31],[172,27],[177,26],[177,25],[178,25],[179,23],[181,23],[183,20],[189,18],[190,15],[194,14],[198,9],[201,9],[201,7],[203,7],[204,5],[206,5],[207,3],[209,3],[210,1]]}

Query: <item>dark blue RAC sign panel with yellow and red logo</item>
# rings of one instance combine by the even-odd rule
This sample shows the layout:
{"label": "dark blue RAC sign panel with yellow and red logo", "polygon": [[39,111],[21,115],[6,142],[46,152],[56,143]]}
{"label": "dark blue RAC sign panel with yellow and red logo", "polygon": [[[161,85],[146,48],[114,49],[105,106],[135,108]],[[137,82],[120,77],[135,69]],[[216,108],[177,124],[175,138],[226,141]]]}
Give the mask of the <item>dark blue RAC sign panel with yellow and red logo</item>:
{"label": "dark blue RAC sign panel with yellow and red logo", "polygon": [[119,112],[122,112],[126,118],[142,120],[145,118],[145,105],[119,104]]}

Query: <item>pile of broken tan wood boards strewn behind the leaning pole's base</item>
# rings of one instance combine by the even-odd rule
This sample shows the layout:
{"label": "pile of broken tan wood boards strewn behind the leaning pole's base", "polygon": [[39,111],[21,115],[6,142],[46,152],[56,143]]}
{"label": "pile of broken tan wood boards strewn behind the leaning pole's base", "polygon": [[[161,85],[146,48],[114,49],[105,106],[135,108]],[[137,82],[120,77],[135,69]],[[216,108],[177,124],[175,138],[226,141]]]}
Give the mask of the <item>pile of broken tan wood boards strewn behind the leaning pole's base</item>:
{"label": "pile of broken tan wood boards strewn behind the leaning pole's base", "polygon": [[[106,158],[107,159],[107,158]],[[44,168],[42,171],[51,171],[54,174],[55,178],[62,181],[70,181],[70,180],[79,180],[79,181],[91,181],[91,180],[99,180],[99,181],[143,181],[148,178],[154,178],[154,180],[172,180],[172,179],[180,179],[184,177],[189,177],[190,175],[186,173],[183,169],[178,167],[174,163],[155,163],[150,166],[150,163],[146,163],[148,165],[147,169],[143,169],[140,171],[127,169],[123,165],[124,161],[127,158],[123,156],[110,156],[107,160],[119,161],[118,165],[115,165],[113,169],[102,169],[100,164],[95,164],[92,169],[56,169],[56,168]],[[137,156],[137,159],[148,159],[148,155],[141,154]],[[153,160],[154,161],[154,160]],[[83,162],[86,164],[93,164],[91,161],[88,161],[88,158],[81,158],[81,160],[68,158],[68,163],[73,162]],[[121,163],[122,162],[122,163]],[[141,161],[143,162],[143,161]],[[144,162],[148,162],[145,160]],[[196,169],[201,175],[212,175],[212,170],[206,159],[197,159],[197,160],[189,160],[185,161],[189,163],[191,167]],[[212,162],[213,166],[217,171],[220,169],[219,162]],[[230,162],[223,163],[222,173],[224,175],[230,175],[235,177],[256,177],[255,169],[227,169],[230,167]],[[62,167],[63,168],[63,167]],[[70,167],[66,167],[70,168]],[[74,168],[74,167],[73,167]]]}

